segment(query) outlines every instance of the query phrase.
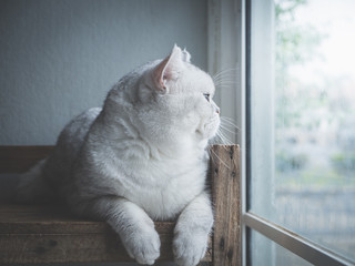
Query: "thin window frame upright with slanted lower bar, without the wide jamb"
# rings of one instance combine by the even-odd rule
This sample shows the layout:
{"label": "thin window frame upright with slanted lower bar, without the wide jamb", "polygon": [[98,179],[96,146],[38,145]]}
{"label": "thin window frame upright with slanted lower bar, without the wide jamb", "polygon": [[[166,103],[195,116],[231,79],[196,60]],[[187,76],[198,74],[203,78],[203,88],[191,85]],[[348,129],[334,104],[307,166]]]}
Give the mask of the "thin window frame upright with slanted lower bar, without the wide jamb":
{"label": "thin window frame upright with slanted lower bar, without the wide jamb", "polygon": [[[243,200],[244,203],[243,212],[242,212],[242,225],[243,225],[243,237],[244,237],[244,245],[245,253],[243,265],[250,264],[250,256],[248,256],[248,246],[250,246],[250,236],[251,231],[256,231],[267,237],[268,239],[273,241],[274,243],[278,244],[280,246],[288,249],[293,254],[298,255],[303,259],[315,264],[315,265],[352,265],[353,263],[343,256],[333,253],[332,250],[324,248],[310,239],[306,239],[295,232],[290,232],[283,228],[278,224],[274,224],[263,217],[257,216],[256,214],[252,213],[250,209],[250,186],[252,180],[252,167],[251,167],[251,132],[252,132],[252,116],[251,116],[251,100],[252,94],[252,76],[251,76],[251,30],[252,30],[252,4],[257,3],[258,0],[241,0],[242,1],[242,10],[243,10],[243,21],[244,21],[244,35],[242,35],[242,42],[244,42],[244,50],[242,54],[244,54],[244,65],[245,65],[245,74],[244,74],[244,89],[245,89],[245,98],[242,101],[245,101],[243,104],[245,106],[244,113],[244,131],[243,131],[243,146],[245,146],[245,154],[243,154],[244,162],[243,162],[243,175],[242,175],[242,185],[243,185]],[[263,1],[263,0],[261,0]]]}

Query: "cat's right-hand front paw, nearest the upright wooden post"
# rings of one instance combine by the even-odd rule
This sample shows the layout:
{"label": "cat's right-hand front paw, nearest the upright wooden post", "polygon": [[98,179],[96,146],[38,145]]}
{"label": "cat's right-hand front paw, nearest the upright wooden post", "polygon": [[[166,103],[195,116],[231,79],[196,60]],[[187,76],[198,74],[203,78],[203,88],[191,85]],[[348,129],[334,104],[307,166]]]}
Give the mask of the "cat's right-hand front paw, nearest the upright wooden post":
{"label": "cat's right-hand front paw, nearest the upright wooden post", "polygon": [[176,231],[173,253],[179,266],[195,266],[207,249],[209,234],[203,231]]}

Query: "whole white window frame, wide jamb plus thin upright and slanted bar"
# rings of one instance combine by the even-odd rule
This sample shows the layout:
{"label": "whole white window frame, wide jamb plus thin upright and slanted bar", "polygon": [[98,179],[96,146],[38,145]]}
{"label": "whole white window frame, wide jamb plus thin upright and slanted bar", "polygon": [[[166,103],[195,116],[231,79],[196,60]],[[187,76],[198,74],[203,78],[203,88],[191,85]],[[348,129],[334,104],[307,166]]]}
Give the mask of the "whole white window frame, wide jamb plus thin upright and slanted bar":
{"label": "whole white window frame, wide jamb plus thin upright and slanted bar", "polygon": [[265,0],[209,0],[209,72],[235,69],[235,84],[216,93],[222,115],[233,119],[240,131],[234,141],[241,145],[242,186],[242,262],[247,260],[251,231],[315,265],[353,265],[329,249],[301,237],[248,211],[251,180],[251,7]]}

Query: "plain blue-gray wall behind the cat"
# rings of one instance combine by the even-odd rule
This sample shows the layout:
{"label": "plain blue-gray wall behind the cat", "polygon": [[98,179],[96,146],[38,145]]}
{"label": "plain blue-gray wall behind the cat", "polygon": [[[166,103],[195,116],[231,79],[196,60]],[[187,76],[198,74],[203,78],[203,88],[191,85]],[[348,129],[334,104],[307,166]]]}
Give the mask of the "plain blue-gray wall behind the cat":
{"label": "plain blue-gray wall behind the cat", "polygon": [[174,43],[206,69],[205,0],[0,0],[0,145],[54,144]]}

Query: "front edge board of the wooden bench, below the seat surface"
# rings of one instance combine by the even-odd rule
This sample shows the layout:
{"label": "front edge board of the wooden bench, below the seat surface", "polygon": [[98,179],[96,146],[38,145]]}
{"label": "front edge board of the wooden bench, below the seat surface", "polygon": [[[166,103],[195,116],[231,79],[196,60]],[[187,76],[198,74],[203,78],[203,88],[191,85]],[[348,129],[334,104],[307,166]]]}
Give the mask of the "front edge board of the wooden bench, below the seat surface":
{"label": "front edge board of the wooden bench, below the seat surface", "polygon": [[[0,235],[0,264],[133,262],[114,232],[105,234]],[[172,235],[160,234],[161,256],[173,260]],[[211,249],[203,262],[211,262]]]}

